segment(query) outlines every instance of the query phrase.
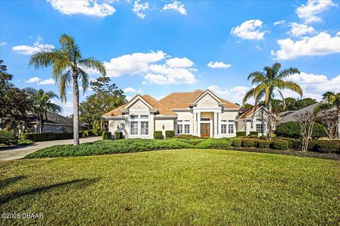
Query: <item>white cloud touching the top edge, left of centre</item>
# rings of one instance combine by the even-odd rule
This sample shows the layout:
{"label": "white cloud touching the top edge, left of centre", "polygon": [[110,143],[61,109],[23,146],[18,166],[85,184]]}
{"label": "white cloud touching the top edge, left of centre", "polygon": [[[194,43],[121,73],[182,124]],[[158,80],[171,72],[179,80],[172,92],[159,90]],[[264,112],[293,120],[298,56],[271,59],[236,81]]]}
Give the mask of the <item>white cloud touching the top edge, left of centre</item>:
{"label": "white cloud touching the top edge, left of centre", "polygon": [[115,8],[108,3],[98,4],[91,0],[47,0],[52,7],[66,15],[83,14],[86,16],[106,17],[115,13]]}

